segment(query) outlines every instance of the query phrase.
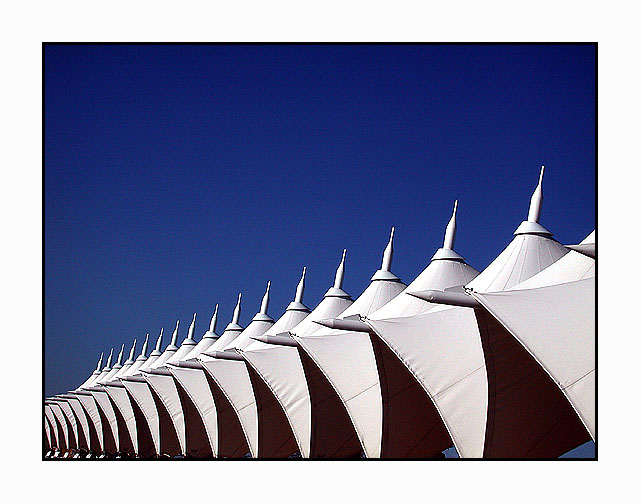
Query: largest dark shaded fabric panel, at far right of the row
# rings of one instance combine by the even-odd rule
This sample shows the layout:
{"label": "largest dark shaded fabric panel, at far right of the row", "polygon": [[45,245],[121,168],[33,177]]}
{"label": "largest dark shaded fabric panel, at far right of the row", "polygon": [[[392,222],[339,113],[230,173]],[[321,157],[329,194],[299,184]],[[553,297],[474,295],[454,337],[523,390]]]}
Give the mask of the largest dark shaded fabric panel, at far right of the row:
{"label": "largest dark shaded fabric panel, at far right of the row", "polygon": [[485,355],[484,458],[557,458],[590,441],[550,376],[494,317],[474,310]]}

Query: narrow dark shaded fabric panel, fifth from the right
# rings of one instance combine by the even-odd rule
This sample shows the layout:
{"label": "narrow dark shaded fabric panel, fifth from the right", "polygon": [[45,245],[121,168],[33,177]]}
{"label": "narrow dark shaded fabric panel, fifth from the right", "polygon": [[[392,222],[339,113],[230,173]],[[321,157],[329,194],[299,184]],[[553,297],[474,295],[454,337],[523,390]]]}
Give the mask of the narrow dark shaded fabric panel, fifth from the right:
{"label": "narrow dark shaded fabric panel, fifth from the right", "polygon": [[205,372],[207,383],[214,396],[218,413],[218,456],[241,458],[249,453],[249,444],[240,425],[240,420],[220,387],[214,379]]}

